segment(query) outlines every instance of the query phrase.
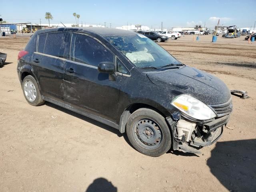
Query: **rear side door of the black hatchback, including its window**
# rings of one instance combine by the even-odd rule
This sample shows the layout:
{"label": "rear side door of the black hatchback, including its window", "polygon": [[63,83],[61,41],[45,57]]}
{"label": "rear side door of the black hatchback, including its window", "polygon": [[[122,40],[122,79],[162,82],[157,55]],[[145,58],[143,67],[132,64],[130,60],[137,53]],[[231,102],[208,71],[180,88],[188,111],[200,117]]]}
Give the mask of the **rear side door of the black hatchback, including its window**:
{"label": "rear side door of the black hatchback, including its window", "polygon": [[33,72],[41,94],[63,102],[64,51],[69,33],[39,34],[36,52],[32,56]]}

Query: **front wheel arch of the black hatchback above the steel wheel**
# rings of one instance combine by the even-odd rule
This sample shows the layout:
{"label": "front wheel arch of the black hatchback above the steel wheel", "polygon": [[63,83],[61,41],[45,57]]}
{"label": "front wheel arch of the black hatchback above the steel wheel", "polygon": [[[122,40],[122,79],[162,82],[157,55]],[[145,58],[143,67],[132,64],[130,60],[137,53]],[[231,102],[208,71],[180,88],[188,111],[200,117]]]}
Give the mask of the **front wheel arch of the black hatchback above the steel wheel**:
{"label": "front wheel arch of the black hatchback above the steel wheel", "polygon": [[160,115],[162,115],[164,118],[167,117],[167,111],[162,111],[159,110],[158,108],[149,105],[149,104],[145,104],[145,103],[133,103],[130,104],[128,107],[126,107],[120,117],[120,122],[119,122],[119,131],[120,133],[124,133],[125,129],[126,129],[126,124],[128,122],[129,117],[131,116],[131,114],[140,109],[140,108],[149,108],[152,109],[156,112],[158,112]]}

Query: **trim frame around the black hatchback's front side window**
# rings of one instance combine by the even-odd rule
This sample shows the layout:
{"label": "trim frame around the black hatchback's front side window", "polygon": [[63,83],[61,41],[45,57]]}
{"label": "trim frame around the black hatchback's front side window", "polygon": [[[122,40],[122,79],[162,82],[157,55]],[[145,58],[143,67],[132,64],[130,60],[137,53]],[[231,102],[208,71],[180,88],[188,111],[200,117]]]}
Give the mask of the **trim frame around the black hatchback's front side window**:
{"label": "trim frame around the black hatchback's front side window", "polygon": [[76,64],[80,64],[80,65],[85,65],[87,67],[91,67],[91,68],[96,68],[98,69],[96,66],[93,66],[93,65],[90,65],[88,63],[84,64],[84,63],[80,63],[80,62],[76,62],[76,61],[72,61],[71,60],[71,47],[72,47],[72,38],[73,38],[73,34],[80,34],[80,35],[84,35],[84,36],[88,36],[90,38],[93,38],[94,40],[96,40],[97,42],[99,42],[102,46],[104,46],[113,56],[113,61],[114,61],[114,64],[116,65],[116,55],[104,44],[102,43],[100,40],[98,40],[97,38],[95,38],[94,36],[91,36],[89,34],[86,34],[86,33],[81,33],[81,32],[72,32],[72,35],[71,35],[71,41],[70,41],[70,52],[69,52],[69,59],[67,59],[69,62],[73,62],[73,63],[76,63]]}

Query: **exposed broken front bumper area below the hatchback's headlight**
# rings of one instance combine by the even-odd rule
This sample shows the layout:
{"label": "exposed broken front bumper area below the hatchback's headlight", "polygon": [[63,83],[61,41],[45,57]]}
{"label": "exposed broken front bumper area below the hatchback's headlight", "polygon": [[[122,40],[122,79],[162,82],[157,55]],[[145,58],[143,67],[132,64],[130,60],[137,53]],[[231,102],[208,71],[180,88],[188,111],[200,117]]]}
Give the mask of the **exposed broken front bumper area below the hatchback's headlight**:
{"label": "exposed broken front bumper area below the hatchback's headlight", "polygon": [[[230,120],[230,114],[202,122],[192,122],[186,118],[174,121],[171,117],[167,117],[166,120],[172,129],[173,150],[201,153],[200,148],[213,144],[221,137],[224,126]],[[187,127],[182,128],[178,124],[179,121]],[[192,129],[188,126],[191,126]]]}

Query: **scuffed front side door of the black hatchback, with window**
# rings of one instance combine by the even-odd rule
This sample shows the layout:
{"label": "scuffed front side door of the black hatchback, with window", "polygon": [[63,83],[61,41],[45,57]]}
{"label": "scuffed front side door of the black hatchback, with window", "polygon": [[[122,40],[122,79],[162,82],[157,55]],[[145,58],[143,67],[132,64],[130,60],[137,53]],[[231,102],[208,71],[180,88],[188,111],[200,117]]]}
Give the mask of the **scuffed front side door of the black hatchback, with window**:
{"label": "scuffed front side door of the black hatchback, with window", "polygon": [[64,102],[80,110],[116,121],[122,75],[99,73],[98,64],[115,62],[114,54],[100,41],[73,33],[70,59],[65,64]]}

